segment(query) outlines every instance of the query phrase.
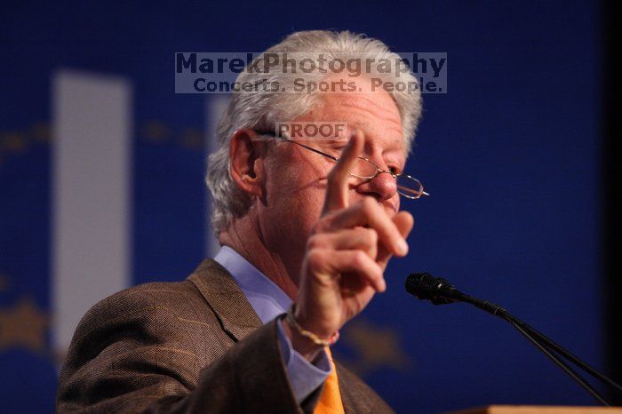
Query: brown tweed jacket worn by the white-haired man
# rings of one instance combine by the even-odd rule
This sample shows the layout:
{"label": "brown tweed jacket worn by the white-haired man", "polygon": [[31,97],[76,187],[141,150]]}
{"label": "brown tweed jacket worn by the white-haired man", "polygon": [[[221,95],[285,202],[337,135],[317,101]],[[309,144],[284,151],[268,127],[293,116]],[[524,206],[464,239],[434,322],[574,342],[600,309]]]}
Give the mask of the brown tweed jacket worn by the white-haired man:
{"label": "brown tweed jacket worn by the white-haired man", "polygon": [[[337,365],[347,413],[393,412]],[[300,405],[275,321],[262,325],[243,292],[211,259],[186,281],[147,283],[92,307],[60,372],[58,412],[312,412]]]}

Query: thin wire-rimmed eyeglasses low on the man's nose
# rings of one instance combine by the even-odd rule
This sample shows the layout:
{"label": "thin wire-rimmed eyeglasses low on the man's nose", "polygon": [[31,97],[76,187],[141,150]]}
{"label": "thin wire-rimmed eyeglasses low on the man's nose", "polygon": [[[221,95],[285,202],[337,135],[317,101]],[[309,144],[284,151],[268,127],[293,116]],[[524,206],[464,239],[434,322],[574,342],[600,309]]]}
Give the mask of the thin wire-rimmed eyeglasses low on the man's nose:
{"label": "thin wire-rimmed eyeglasses low on the man's nose", "polygon": [[[335,163],[339,161],[339,158],[337,157],[326,154],[318,149],[315,149],[314,147],[307,147],[306,145],[300,144],[293,139],[287,139],[283,136],[279,136],[275,132],[258,131],[258,133],[261,135],[269,135],[275,137],[276,139],[281,139],[285,142],[289,142],[291,144],[296,144],[299,147],[303,147],[308,149],[309,151],[315,152],[315,154],[323,155]],[[408,174],[396,173],[391,170],[382,170],[377,163],[374,163],[369,158],[364,158],[363,156],[359,156],[358,158],[359,159],[358,162],[355,164],[355,167],[352,171],[350,171],[351,176],[357,179],[371,181],[371,179],[375,179],[376,177],[378,177],[379,174],[387,172],[387,174],[395,179],[395,182],[397,184],[397,192],[400,195],[403,195],[406,198],[410,198],[411,200],[416,200],[421,195],[429,196],[429,194],[424,191],[423,184],[421,184],[421,181],[419,181],[419,179],[415,179]]]}

